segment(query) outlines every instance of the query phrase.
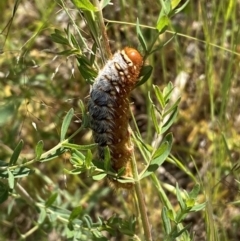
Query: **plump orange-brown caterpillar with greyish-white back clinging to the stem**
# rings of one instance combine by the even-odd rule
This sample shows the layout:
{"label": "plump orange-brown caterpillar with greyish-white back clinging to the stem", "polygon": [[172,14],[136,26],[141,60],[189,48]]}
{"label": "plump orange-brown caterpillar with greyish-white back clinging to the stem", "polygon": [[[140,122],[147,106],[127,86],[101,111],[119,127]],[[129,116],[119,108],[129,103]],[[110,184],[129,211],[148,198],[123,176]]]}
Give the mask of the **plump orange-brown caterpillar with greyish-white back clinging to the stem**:
{"label": "plump orange-brown caterpillar with greyish-white back clinging to the stem", "polygon": [[[109,147],[110,163],[118,172],[132,176],[130,143],[129,94],[134,88],[143,66],[141,54],[134,48],[125,47],[116,52],[99,72],[90,90],[88,112],[90,128],[98,144],[98,155],[104,159],[104,148]],[[110,180],[116,187],[130,189],[131,183]]]}

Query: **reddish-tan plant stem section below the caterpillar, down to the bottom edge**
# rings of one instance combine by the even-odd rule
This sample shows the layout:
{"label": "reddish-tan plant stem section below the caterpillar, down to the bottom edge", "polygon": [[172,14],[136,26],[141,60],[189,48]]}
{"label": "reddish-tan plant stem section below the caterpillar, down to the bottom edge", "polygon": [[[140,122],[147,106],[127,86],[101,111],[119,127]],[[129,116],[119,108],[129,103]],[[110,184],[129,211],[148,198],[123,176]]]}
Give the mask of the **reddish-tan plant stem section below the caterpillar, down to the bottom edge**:
{"label": "reddish-tan plant stem section below the caterpillar, down to the bottom edge", "polygon": [[[133,146],[132,142],[131,142],[131,145]],[[138,170],[137,170],[137,164],[136,164],[134,152],[132,153],[131,166],[132,166],[132,171],[133,171],[133,178],[135,180],[134,188],[135,188],[135,193],[136,193],[137,200],[138,200],[138,206],[139,206],[142,225],[143,225],[143,229],[144,229],[145,239],[146,239],[146,241],[152,241],[152,234],[151,234],[151,230],[150,230],[150,224],[148,221],[147,209],[146,209],[144,196],[143,196],[143,192],[142,192],[142,187],[141,187],[139,176],[138,176]]]}

